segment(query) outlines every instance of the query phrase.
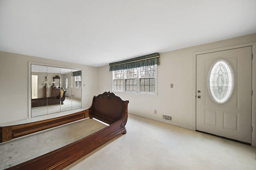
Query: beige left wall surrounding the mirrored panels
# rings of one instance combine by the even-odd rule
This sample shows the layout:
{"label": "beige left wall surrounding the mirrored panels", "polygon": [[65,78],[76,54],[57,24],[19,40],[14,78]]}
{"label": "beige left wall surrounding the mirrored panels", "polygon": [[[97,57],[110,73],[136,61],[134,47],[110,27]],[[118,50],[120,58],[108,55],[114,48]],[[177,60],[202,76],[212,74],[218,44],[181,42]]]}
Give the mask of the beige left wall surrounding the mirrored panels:
{"label": "beige left wall surrounding the mirrored panels", "polygon": [[28,62],[81,68],[82,107],[90,106],[98,94],[96,67],[0,51],[0,123],[28,118]]}

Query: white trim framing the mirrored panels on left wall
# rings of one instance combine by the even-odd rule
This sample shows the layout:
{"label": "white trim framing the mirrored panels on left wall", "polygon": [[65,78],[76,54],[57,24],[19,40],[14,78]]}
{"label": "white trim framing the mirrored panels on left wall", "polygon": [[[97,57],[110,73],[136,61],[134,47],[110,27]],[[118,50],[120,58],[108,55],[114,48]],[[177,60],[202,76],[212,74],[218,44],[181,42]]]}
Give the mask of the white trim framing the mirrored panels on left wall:
{"label": "white trim framing the mirrored panels on left wall", "polygon": [[[42,65],[42,66],[52,66],[52,67],[59,67],[59,68],[68,68],[68,69],[74,69],[74,70],[81,70],[81,72],[83,72],[82,68],[77,68],[77,67],[70,67],[70,66],[61,66],[61,65],[56,65],[56,64],[46,64],[46,63],[38,63],[38,62],[32,62],[29,61],[28,62],[28,119],[32,118],[31,116],[31,64],[35,64],[35,65]],[[83,81],[83,79],[82,79]],[[81,87],[81,106],[82,106],[82,87]],[[61,113],[57,112],[57,113]],[[51,114],[55,114],[55,113],[51,113]]]}

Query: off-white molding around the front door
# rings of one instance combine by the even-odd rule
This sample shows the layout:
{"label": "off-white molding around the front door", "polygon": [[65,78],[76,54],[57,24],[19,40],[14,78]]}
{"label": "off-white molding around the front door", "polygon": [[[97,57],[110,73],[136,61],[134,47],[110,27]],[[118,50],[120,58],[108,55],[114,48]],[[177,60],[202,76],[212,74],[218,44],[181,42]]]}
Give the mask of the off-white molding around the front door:
{"label": "off-white molding around the front door", "polygon": [[192,127],[196,131],[196,55],[212,53],[217,51],[224,51],[229,49],[236,49],[242,47],[252,46],[252,54],[254,54],[254,59],[252,60],[252,146],[256,147],[256,42],[245,43],[240,45],[233,45],[228,47],[222,47],[218,49],[211,49],[206,51],[198,51],[193,53],[193,84],[192,84],[192,100],[193,100],[193,113],[192,113]]}

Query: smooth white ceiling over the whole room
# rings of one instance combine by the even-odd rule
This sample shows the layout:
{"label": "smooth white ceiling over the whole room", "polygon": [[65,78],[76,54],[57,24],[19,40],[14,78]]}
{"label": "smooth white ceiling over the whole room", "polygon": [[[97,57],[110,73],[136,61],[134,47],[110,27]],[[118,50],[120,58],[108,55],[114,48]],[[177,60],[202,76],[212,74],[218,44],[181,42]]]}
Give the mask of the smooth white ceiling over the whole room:
{"label": "smooth white ceiling over the whole room", "polygon": [[103,66],[256,32],[256,0],[0,0],[0,51]]}

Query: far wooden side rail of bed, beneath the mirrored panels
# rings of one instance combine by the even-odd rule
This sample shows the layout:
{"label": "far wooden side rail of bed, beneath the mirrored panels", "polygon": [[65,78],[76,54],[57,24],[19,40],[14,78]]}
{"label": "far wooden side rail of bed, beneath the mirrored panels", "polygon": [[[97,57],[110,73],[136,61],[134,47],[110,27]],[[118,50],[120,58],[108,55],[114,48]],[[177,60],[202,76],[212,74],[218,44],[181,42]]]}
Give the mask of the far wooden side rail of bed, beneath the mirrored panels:
{"label": "far wooden side rail of bed, beneath the mirrored panels", "polygon": [[88,117],[89,110],[86,109],[70,115],[46,119],[43,121],[0,127],[0,143]]}

